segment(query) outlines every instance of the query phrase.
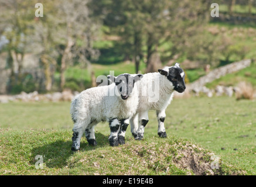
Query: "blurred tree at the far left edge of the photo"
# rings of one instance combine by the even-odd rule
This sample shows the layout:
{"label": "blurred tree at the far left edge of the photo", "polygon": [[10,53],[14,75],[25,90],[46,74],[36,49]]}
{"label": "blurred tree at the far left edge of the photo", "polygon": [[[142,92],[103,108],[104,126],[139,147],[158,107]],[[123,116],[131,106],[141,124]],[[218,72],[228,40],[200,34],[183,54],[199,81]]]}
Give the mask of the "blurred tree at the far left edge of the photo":
{"label": "blurred tree at the far left edge of the photo", "polygon": [[7,67],[11,69],[9,91],[14,85],[22,84],[23,57],[29,51],[28,36],[32,33],[33,22],[33,16],[27,8],[29,5],[28,1],[0,1],[0,33],[9,41],[6,45]]}

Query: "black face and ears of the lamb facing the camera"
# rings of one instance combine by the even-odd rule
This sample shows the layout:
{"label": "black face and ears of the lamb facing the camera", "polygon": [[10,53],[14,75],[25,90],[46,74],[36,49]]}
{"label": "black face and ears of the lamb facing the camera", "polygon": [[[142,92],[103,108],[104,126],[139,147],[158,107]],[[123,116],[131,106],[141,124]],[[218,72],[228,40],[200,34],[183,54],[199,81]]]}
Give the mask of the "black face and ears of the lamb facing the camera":
{"label": "black face and ears of the lamb facing the camera", "polygon": [[142,74],[131,75],[121,74],[114,78],[115,85],[117,86],[118,92],[122,99],[127,99],[131,95],[134,88],[134,84],[142,77]]}

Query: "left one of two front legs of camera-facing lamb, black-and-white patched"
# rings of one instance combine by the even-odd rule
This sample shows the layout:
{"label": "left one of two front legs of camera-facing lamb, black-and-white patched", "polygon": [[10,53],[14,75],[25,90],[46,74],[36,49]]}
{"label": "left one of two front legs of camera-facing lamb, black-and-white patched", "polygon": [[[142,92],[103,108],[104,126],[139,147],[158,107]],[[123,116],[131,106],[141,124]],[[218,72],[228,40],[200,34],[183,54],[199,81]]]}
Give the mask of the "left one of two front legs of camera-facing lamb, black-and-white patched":
{"label": "left one of two front legs of camera-facing lamb, black-and-white patched", "polygon": [[118,130],[120,129],[120,122],[117,118],[110,119],[110,137],[108,140],[110,141],[110,146],[118,146]]}

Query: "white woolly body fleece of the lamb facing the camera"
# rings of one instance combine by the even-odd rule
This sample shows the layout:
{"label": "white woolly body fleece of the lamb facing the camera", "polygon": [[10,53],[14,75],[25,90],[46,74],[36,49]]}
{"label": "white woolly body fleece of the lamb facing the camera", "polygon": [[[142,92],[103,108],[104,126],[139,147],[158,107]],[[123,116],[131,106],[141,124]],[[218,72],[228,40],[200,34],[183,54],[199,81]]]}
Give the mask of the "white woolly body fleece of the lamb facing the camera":
{"label": "white woolly body fleece of the lamb facing the camera", "polygon": [[138,88],[136,84],[131,96],[123,100],[115,84],[86,89],[76,95],[71,102],[70,113],[74,120],[81,125],[90,124],[92,121],[101,122],[108,119],[127,119],[136,113],[138,106]]}

